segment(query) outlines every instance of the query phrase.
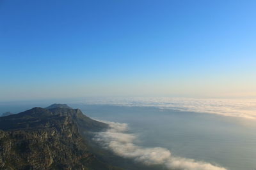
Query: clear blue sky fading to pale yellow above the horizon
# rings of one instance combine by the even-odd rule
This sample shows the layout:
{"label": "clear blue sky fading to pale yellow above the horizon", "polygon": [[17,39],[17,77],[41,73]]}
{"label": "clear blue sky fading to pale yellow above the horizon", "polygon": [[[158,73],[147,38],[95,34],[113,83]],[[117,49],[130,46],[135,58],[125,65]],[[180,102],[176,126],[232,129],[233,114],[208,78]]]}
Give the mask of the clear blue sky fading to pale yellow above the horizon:
{"label": "clear blue sky fading to pale yellow above the horizon", "polygon": [[0,101],[256,96],[256,1],[0,0]]}

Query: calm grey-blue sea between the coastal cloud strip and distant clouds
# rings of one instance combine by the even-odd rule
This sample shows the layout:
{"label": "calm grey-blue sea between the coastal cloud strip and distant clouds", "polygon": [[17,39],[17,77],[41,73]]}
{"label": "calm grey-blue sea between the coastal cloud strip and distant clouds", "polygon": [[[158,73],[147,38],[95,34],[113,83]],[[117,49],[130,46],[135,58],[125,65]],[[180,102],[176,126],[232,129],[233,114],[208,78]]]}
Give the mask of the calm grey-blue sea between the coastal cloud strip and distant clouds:
{"label": "calm grey-blue sea between the coastal cloud strip and distant clouds", "polygon": [[89,117],[128,124],[134,143],[226,169],[256,168],[256,121],[153,106],[73,104]]}

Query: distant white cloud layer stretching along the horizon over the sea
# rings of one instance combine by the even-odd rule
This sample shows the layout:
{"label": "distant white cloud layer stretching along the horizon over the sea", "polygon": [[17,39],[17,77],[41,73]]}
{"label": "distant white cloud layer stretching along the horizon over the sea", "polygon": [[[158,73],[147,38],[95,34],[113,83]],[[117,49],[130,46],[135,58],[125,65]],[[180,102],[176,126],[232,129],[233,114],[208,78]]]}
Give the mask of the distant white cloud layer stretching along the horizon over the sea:
{"label": "distant white cloud layer stretching along the horizon over the sea", "polygon": [[228,117],[256,118],[256,99],[196,99],[180,97],[102,97],[80,101],[86,104],[155,106],[163,109],[214,113]]}

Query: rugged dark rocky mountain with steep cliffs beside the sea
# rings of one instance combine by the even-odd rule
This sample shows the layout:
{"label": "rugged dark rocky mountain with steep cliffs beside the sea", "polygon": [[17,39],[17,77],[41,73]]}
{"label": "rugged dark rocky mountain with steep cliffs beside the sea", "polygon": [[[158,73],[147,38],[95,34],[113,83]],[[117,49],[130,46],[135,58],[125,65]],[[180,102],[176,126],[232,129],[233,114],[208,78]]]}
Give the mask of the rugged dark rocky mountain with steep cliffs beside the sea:
{"label": "rugged dark rocky mountain with steep cliffs beside the sea", "polygon": [[81,136],[107,127],[70,108],[1,117],[0,169],[115,169],[91,153]]}

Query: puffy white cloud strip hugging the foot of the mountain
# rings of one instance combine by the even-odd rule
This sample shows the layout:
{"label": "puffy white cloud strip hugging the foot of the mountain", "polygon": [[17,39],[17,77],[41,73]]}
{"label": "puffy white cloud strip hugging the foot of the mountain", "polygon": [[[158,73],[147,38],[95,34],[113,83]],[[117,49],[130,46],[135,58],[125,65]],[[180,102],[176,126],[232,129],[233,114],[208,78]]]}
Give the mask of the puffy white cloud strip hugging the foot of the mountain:
{"label": "puffy white cloud strip hugging the foot of the mountain", "polygon": [[136,135],[128,132],[127,124],[105,122],[109,124],[108,131],[97,132],[94,140],[105,148],[112,150],[121,157],[134,159],[148,166],[163,165],[166,169],[184,170],[224,170],[224,167],[214,166],[207,162],[175,157],[166,148],[145,148],[134,144]]}

